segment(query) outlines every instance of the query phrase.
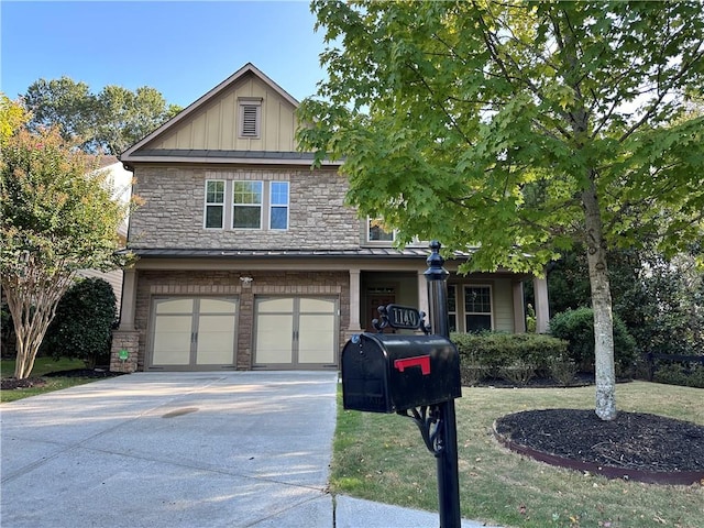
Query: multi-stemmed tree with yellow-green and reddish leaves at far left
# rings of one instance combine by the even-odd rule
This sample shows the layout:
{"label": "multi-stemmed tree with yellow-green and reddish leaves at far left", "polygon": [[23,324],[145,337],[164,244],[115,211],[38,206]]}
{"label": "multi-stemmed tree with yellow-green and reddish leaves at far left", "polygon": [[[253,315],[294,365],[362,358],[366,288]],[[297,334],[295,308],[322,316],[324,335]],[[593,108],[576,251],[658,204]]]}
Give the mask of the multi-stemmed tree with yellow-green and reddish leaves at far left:
{"label": "multi-stemmed tree with yellow-green and reddish leaves at far left", "polygon": [[112,200],[97,160],[56,129],[15,130],[1,146],[0,284],[28,377],[57,302],[82,268],[110,270],[128,206]]}

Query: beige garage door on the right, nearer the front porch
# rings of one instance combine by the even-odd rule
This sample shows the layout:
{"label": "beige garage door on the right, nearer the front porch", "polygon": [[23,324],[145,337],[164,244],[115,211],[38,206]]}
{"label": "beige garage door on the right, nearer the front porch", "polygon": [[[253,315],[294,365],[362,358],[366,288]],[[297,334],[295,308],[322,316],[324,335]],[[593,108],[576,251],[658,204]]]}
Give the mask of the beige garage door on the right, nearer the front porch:
{"label": "beige garage door on the right, nearer the front porch", "polygon": [[256,366],[337,366],[337,298],[256,297],[254,309]]}

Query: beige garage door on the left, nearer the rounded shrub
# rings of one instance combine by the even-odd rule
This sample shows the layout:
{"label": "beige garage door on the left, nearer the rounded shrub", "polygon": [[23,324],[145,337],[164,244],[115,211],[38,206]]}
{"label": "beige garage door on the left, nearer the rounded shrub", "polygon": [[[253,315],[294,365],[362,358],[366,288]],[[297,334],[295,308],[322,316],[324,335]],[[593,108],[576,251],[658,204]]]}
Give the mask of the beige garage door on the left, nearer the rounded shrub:
{"label": "beige garage door on the left, nearer the rounded shrub", "polygon": [[237,298],[155,298],[152,307],[151,369],[233,367]]}

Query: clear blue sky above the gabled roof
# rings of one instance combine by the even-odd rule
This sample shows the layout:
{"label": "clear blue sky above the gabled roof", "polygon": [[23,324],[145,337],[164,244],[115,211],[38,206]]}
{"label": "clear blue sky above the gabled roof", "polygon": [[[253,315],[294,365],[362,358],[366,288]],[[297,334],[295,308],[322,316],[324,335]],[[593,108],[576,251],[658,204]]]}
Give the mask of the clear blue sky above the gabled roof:
{"label": "clear blue sky above the gabled roof", "polygon": [[309,2],[0,2],[0,90],[68,76],[94,94],[150,86],[187,107],[246,63],[298,100],[323,78]]}

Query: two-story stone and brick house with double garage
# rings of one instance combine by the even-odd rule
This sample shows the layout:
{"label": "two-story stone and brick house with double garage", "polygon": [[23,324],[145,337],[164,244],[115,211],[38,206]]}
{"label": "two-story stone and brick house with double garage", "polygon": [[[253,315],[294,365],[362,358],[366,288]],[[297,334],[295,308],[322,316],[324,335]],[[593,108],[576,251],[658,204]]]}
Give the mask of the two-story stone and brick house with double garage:
{"label": "two-story stone and brick house with double garage", "polygon": [[[344,206],[339,164],[296,147],[297,106],[248,64],[122,154],[144,205],[112,370],[338,369],[380,305],[427,311],[427,243]],[[525,331],[525,278],[452,273],[453,329]]]}

